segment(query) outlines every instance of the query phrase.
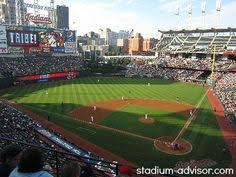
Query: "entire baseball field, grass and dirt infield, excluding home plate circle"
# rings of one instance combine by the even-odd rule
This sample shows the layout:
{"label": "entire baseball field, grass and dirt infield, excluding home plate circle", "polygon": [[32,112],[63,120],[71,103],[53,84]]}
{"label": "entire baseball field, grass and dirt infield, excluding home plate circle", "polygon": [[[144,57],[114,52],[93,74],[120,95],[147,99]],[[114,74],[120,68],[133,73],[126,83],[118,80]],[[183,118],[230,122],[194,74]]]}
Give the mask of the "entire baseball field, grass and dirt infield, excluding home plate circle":
{"label": "entire baseball field, grass and dirt infield, excluding home plate circle", "polygon": [[[3,98],[138,166],[175,167],[196,162],[227,167],[231,156],[205,92],[207,88],[154,79],[89,77],[12,87]],[[176,155],[154,140],[181,136],[191,148]]]}

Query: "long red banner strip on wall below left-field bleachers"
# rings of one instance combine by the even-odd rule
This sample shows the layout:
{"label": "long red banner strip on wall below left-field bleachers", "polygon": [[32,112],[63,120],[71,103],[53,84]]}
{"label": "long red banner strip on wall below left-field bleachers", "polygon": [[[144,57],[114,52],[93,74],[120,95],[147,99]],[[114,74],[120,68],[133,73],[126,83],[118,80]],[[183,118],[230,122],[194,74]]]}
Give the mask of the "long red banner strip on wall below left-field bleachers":
{"label": "long red banner strip on wall below left-field bleachers", "polygon": [[62,73],[50,73],[44,75],[32,75],[32,76],[23,76],[19,77],[18,80],[21,81],[36,81],[41,79],[56,79],[56,78],[65,78],[71,76],[78,76],[79,72],[62,72]]}

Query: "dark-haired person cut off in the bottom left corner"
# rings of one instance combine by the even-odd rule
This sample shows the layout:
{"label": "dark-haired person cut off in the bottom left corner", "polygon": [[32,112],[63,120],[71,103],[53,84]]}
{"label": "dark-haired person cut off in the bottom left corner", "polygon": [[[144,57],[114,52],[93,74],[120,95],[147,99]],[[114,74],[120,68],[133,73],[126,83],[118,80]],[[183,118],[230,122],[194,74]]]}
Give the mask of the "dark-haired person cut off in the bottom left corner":
{"label": "dark-haired person cut off in the bottom left corner", "polygon": [[7,146],[1,153],[0,176],[8,177],[19,162],[21,149],[18,146]]}

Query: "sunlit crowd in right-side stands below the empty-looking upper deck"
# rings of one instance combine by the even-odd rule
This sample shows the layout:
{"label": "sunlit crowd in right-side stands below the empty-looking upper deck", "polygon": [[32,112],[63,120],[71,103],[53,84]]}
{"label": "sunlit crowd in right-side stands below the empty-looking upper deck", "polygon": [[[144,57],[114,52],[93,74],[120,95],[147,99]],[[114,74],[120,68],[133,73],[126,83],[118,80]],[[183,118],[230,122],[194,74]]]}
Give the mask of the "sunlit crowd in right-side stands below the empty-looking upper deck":
{"label": "sunlit crowd in right-side stands below the empty-looking upper deck", "polygon": [[[215,93],[225,107],[226,117],[236,125],[236,74],[224,72],[214,72],[211,75],[212,60],[210,59],[183,59],[183,58],[164,58],[156,61],[155,64],[148,62],[140,63],[135,60],[127,65],[127,77],[160,77],[179,81],[206,81],[213,79],[218,81],[215,87]],[[235,66],[236,62],[232,60],[216,61],[215,70],[227,70]],[[194,69],[194,70],[191,70]],[[208,73],[199,70],[209,70]],[[206,76],[204,78],[204,76]]]}

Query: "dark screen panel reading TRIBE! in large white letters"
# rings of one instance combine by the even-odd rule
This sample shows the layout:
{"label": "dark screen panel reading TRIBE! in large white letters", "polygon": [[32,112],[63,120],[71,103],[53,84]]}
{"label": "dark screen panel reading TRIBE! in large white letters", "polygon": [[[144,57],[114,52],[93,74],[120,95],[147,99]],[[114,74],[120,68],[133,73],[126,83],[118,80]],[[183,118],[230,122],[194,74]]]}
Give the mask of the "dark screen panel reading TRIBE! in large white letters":
{"label": "dark screen panel reading TRIBE! in large white letters", "polygon": [[9,46],[38,46],[38,35],[32,31],[8,31]]}

